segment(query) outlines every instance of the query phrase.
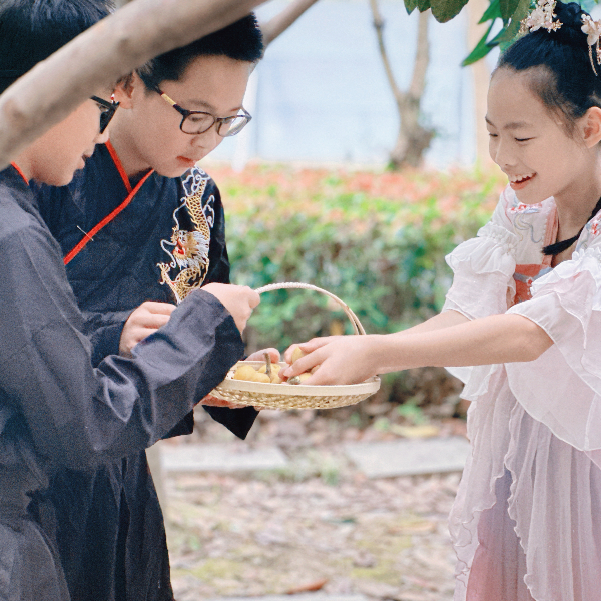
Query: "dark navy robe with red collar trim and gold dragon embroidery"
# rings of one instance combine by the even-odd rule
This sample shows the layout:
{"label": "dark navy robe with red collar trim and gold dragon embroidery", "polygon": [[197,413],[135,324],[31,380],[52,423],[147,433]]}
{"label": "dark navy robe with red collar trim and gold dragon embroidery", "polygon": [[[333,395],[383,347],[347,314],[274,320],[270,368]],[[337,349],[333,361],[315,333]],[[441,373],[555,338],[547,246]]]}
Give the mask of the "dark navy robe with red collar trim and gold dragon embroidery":
{"label": "dark navy robe with red collar trim and gold dragon embroidery", "polygon": [[[69,186],[38,189],[40,212],[64,255],[127,197],[126,178],[114,156],[112,148],[97,146]],[[181,281],[192,267],[191,287],[229,283],[219,190],[198,168],[181,179],[151,174],[131,203],[67,264],[81,310],[103,314],[104,325],[96,323],[93,334],[98,359],[115,352],[133,308],[144,301],[177,301],[169,284],[160,283],[160,264],[170,282],[177,282],[178,276]],[[177,292],[176,284],[172,286]],[[257,415],[252,407],[206,409],[240,438]],[[169,435],[188,434],[193,426],[189,415]],[[48,532],[57,532],[74,598],[172,599],[163,517],[144,453],[85,474],[64,469],[55,476],[45,501],[40,503],[47,514],[44,522]]]}

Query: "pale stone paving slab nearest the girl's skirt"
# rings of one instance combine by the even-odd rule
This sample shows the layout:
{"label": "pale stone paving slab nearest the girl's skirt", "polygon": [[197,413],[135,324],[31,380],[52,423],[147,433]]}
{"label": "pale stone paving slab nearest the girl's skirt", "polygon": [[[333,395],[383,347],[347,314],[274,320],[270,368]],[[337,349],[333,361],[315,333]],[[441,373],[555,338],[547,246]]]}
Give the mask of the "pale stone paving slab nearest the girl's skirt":
{"label": "pale stone paving slab nearest the girl's skirt", "polygon": [[368,478],[460,472],[469,454],[463,436],[355,442],[344,445],[347,457]]}

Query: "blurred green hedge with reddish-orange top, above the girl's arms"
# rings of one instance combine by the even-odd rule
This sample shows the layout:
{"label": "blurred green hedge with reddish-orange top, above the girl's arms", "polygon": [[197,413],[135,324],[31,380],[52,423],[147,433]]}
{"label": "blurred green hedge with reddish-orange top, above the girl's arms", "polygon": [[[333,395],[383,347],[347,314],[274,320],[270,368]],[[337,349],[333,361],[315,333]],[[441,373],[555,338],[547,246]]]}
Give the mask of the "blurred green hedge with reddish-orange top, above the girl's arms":
{"label": "blurred green hedge with reddish-orange top, above the girl's arms", "polygon": [[[441,309],[451,284],[444,257],[489,219],[503,185],[496,172],[415,172],[396,188],[387,180],[385,189],[377,181],[385,174],[368,174],[362,185],[344,172],[320,171],[307,180],[263,168],[250,182],[225,175],[232,281],[252,288],[317,285],[349,304],[368,333],[382,334]],[[342,331],[351,334],[352,327],[328,297],[272,291],[249,320],[247,350],[283,350]]]}

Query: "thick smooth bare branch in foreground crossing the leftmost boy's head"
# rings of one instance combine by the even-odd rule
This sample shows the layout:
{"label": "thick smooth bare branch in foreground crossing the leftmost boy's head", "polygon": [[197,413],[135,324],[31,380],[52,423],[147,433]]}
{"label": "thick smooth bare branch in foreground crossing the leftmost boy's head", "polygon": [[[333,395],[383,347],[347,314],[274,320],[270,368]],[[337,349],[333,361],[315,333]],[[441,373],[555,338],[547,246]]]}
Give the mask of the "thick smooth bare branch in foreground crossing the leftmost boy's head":
{"label": "thick smooth bare branch in foreground crossing the leftmost boy's head", "polygon": [[99,88],[241,19],[264,0],[132,0],[0,95],[0,169]]}

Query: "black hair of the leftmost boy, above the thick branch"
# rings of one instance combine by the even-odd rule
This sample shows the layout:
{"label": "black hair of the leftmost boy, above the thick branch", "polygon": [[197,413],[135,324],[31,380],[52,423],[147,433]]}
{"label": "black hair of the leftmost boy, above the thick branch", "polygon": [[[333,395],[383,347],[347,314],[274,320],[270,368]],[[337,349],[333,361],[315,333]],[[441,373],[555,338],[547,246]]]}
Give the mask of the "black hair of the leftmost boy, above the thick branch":
{"label": "black hair of the leftmost boy, above the thick branch", "polygon": [[111,0],[0,0],[0,92],[112,10]]}

